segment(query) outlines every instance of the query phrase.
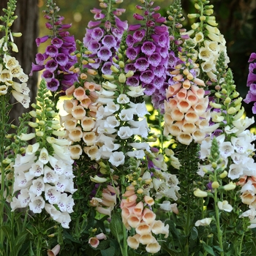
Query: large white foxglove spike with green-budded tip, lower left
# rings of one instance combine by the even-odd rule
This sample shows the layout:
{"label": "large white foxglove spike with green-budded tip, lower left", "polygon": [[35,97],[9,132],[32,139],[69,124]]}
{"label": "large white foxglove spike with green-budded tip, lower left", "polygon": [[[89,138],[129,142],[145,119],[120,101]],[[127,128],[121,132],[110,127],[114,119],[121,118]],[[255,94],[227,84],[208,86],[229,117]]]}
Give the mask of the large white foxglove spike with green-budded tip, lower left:
{"label": "large white foxglove spike with green-budded tip, lower left", "polygon": [[38,96],[40,107],[33,105],[36,110],[30,112],[38,121],[29,123],[37,132],[20,135],[20,140],[35,138],[36,143],[27,146],[26,153],[18,154],[15,159],[11,207],[15,211],[29,206],[34,214],[45,208],[50,217],[68,228],[74,206],[72,194],[76,191],[72,181],[73,160],[67,148],[69,141],[55,137],[65,132],[59,131],[59,121],[55,120],[57,113],[48,99],[44,80]]}

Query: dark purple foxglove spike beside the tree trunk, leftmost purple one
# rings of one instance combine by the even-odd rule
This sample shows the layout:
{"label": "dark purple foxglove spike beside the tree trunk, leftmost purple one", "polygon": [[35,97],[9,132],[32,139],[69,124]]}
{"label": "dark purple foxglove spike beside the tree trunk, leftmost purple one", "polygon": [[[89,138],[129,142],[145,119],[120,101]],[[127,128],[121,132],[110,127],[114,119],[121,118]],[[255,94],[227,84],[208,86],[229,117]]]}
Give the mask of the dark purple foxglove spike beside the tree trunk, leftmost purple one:
{"label": "dark purple foxglove spike beside the tree trunk, leftmost purple one", "polygon": [[50,39],[50,45],[45,48],[45,53],[37,53],[36,64],[32,63],[31,74],[34,71],[45,69],[42,78],[47,83],[50,91],[66,91],[78,80],[78,75],[69,70],[76,63],[76,56],[71,53],[75,51],[75,38],[69,36],[71,24],[62,24],[63,16],[57,15],[59,7],[52,1],[48,1],[48,10],[45,10],[45,23],[47,29],[52,31],[52,35],[46,35],[36,39],[37,47],[42,42]]}

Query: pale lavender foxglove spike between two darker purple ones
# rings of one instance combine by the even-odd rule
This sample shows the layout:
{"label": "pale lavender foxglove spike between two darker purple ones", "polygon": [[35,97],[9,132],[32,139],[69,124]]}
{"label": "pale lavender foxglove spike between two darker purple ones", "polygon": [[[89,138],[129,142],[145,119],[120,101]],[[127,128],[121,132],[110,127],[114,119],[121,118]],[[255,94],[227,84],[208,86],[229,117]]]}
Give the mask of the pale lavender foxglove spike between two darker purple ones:
{"label": "pale lavender foxglove spike between two darker purple ones", "polygon": [[[116,4],[118,3],[116,1]],[[117,17],[125,12],[124,9],[113,8],[111,1],[99,5],[103,10],[96,8],[91,10],[96,21],[89,22],[85,37],[83,37],[83,44],[90,51],[86,56],[94,59],[94,63],[89,63],[86,67],[98,69],[103,75],[111,75],[112,58],[116,55],[121,37],[128,25],[127,21],[122,21]]]}

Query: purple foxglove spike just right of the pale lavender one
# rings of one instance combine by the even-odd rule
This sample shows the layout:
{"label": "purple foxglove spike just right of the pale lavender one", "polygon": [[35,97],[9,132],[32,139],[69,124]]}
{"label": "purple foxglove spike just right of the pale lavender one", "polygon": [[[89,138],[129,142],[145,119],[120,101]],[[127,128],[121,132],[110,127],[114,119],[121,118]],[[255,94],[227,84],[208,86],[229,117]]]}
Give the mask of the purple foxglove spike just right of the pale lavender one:
{"label": "purple foxglove spike just right of the pale lavender one", "polygon": [[146,95],[152,95],[156,90],[159,94],[165,94],[170,48],[168,28],[163,24],[166,19],[157,12],[160,7],[151,7],[153,4],[154,1],[143,1],[143,6],[136,6],[138,10],[143,10],[143,15],[135,13],[134,18],[145,25],[130,25],[129,31],[132,34],[128,34],[126,39],[126,55],[130,63],[125,69],[134,72],[127,79],[127,85],[141,85],[146,89]]}

